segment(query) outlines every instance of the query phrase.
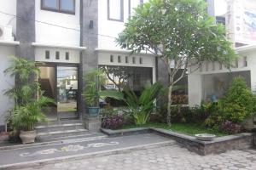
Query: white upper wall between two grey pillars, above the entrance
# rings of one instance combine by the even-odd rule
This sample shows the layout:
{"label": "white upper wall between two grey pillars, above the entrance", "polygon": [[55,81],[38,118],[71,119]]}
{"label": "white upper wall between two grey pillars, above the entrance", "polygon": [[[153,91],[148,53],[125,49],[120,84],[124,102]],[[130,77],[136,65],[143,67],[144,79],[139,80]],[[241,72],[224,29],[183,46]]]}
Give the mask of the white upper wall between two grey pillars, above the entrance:
{"label": "white upper wall between two grey pillars, above the entrance", "polygon": [[[36,1],[35,19],[41,22],[57,26],[49,26],[45,23],[36,21],[36,42],[45,42],[53,44],[63,44],[70,46],[79,46],[80,42],[80,7],[79,0],[76,0],[75,14],[63,14],[41,9],[41,0]],[[68,27],[71,29],[61,28]]]}

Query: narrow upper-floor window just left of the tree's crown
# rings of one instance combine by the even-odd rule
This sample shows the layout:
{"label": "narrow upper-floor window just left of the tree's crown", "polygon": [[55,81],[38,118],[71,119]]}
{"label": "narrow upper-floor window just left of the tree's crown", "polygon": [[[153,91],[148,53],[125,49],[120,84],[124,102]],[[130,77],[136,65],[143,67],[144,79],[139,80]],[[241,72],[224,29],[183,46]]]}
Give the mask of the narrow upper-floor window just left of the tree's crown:
{"label": "narrow upper-floor window just left of the tree's crown", "polygon": [[108,0],[108,20],[124,21],[124,0]]}

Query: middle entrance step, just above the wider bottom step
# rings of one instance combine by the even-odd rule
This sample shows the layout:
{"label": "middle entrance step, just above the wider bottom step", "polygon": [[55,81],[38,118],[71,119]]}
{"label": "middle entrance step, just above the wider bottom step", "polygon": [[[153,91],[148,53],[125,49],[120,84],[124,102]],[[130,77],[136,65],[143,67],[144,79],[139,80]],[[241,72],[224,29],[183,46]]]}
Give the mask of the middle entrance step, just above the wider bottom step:
{"label": "middle entrance step, just above the wider bottom step", "polygon": [[83,129],[83,123],[67,123],[67,124],[55,124],[55,125],[41,125],[37,126],[37,133],[48,133],[55,131],[67,131],[67,130],[76,130]]}

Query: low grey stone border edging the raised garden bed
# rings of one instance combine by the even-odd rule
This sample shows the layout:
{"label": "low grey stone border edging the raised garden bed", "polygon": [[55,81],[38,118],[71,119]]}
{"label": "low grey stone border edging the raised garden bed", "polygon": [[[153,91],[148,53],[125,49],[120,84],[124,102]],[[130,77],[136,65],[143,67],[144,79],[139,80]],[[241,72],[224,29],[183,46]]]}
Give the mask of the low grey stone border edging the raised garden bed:
{"label": "low grey stone border edging the raised garden bed", "polygon": [[108,134],[110,137],[139,133],[156,133],[167,138],[174,139],[178,144],[181,144],[188,150],[194,151],[202,156],[223,153],[228,150],[250,148],[253,147],[254,138],[256,140],[256,137],[254,137],[255,134],[253,133],[239,133],[236,135],[218,137],[212,141],[201,141],[196,139],[194,136],[154,127],[131,128],[124,130],[110,130],[102,128],[101,131],[102,133]]}

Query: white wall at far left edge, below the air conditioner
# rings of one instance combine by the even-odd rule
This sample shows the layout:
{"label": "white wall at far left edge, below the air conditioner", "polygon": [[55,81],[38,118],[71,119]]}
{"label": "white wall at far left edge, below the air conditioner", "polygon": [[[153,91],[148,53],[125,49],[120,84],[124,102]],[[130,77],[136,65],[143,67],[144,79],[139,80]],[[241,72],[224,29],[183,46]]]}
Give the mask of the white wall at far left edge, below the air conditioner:
{"label": "white wall at far left edge, below the air conditioner", "polygon": [[3,95],[3,91],[12,88],[15,84],[13,77],[6,76],[3,71],[9,66],[9,56],[15,54],[15,47],[2,46],[0,44],[0,126],[4,125],[5,116],[13,105],[14,102],[9,97]]}

